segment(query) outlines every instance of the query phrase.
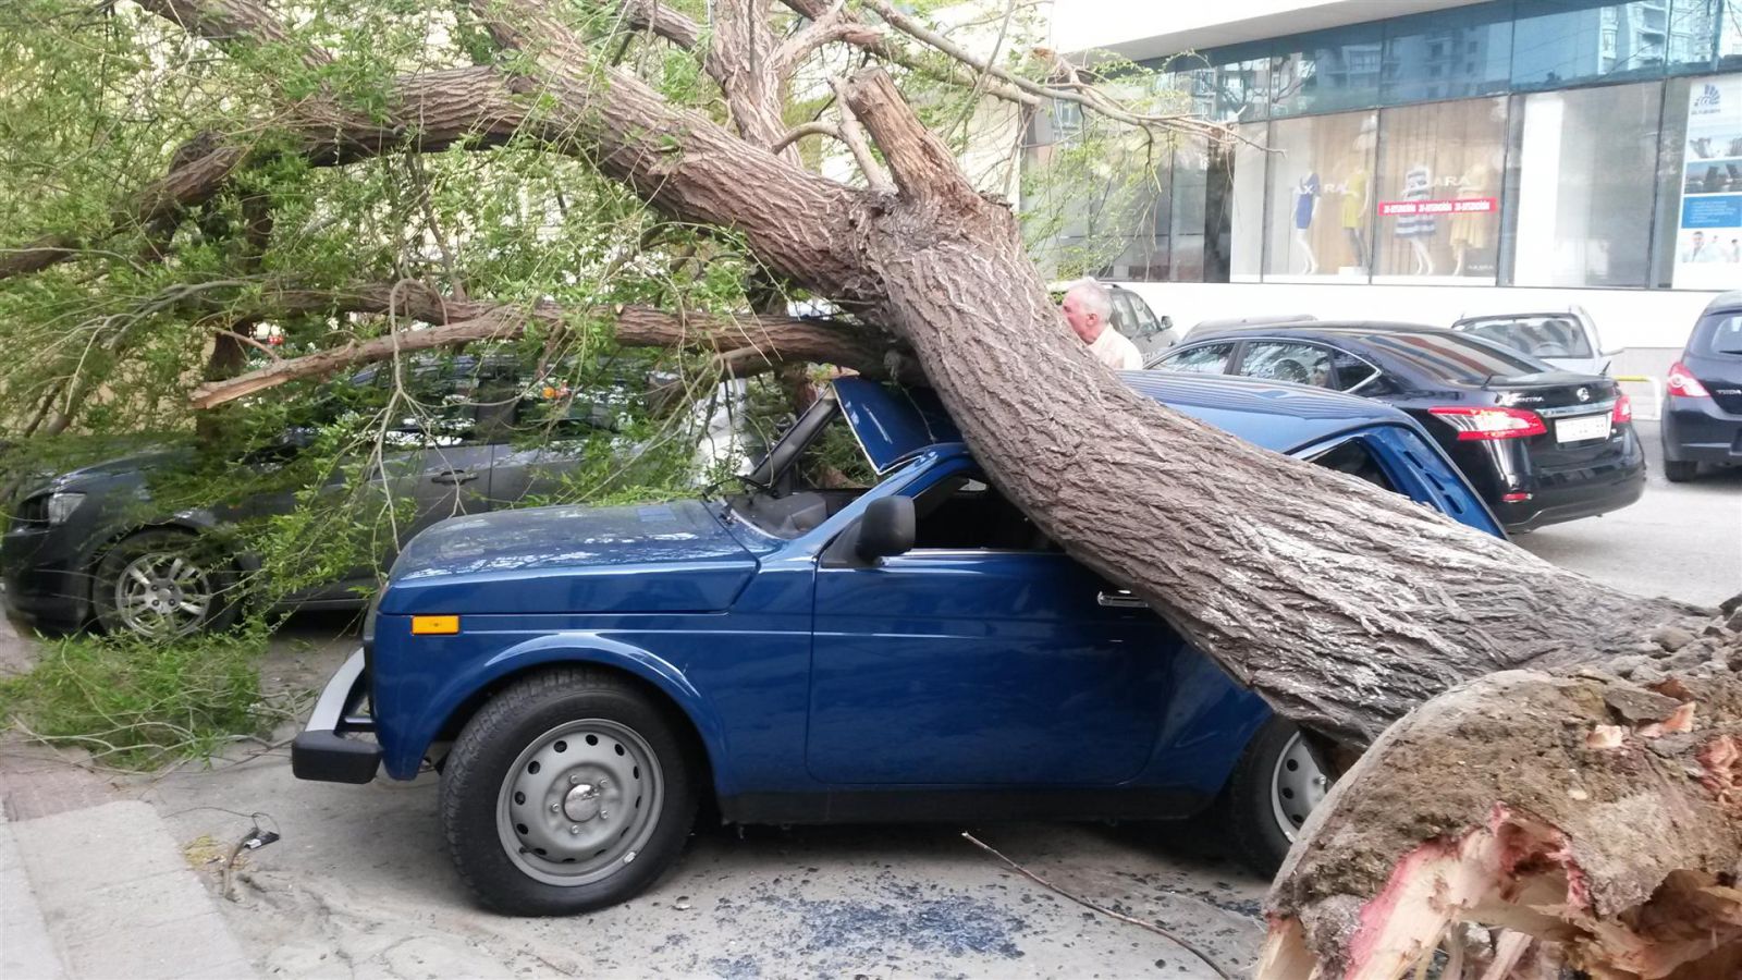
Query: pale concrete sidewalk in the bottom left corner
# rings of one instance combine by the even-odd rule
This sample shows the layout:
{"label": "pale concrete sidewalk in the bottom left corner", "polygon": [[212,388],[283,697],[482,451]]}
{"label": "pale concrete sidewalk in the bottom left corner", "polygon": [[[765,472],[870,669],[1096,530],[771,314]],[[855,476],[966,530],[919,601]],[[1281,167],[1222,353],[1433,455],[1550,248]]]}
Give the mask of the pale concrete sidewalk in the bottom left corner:
{"label": "pale concrete sidewalk in the bottom left corner", "polygon": [[251,978],[157,811],[111,802],[5,823],[0,977]]}

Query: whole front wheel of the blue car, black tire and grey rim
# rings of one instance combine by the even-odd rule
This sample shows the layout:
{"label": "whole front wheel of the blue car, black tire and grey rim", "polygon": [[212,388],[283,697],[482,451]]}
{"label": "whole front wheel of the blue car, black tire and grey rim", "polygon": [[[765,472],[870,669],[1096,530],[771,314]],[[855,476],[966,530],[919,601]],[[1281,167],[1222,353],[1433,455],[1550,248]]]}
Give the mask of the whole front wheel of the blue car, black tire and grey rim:
{"label": "whole front wheel of the blue car, black tire and grey rim", "polygon": [[498,692],[460,732],[441,779],[453,863],[507,915],[634,898],[676,863],[695,809],[692,753],[671,713],[594,668]]}

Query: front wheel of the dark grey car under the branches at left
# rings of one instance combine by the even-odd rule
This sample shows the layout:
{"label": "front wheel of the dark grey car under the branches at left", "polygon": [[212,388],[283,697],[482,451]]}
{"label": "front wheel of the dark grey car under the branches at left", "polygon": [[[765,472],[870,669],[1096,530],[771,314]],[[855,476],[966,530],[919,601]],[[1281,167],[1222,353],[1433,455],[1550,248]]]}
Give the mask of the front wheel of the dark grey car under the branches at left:
{"label": "front wheel of the dark grey car under the branches at left", "polygon": [[105,633],[172,640],[233,626],[239,591],[235,561],[211,539],[153,528],[103,553],[91,610]]}

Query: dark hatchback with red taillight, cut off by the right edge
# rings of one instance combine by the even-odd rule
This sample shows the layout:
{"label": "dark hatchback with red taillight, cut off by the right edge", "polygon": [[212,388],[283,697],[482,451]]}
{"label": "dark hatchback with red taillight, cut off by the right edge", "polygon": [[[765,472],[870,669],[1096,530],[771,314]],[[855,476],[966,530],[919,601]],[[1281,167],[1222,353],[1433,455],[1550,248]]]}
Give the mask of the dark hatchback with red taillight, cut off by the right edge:
{"label": "dark hatchback with red taillight, cut off by the right edge", "polygon": [[1664,476],[1693,480],[1700,464],[1742,466],[1742,293],[1712,300],[1669,368]]}

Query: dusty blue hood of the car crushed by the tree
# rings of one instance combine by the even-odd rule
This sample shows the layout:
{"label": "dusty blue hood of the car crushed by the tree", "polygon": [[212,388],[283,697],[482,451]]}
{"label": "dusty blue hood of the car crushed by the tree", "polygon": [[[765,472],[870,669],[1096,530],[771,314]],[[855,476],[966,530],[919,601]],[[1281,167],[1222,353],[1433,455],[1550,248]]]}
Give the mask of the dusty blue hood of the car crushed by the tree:
{"label": "dusty blue hood of the car crushed by the tree", "polygon": [[441,521],[411,539],[385,614],[712,612],[756,572],[695,500],[530,507]]}

